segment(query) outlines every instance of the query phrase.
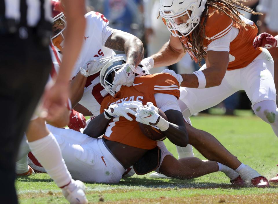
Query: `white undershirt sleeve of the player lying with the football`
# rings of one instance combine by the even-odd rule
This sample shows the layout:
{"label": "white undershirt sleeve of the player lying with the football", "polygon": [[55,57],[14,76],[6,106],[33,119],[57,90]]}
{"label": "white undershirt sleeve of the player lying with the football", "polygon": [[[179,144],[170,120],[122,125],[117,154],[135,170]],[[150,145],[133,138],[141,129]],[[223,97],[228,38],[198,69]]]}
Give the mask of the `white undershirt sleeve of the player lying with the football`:
{"label": "white undershirt sleeve of the player lying with the football", "polygon": [[163,112],[167,110],[180,110],[177,97],[171,94],[155,93],[154,98],[156,99],[156,105]]}

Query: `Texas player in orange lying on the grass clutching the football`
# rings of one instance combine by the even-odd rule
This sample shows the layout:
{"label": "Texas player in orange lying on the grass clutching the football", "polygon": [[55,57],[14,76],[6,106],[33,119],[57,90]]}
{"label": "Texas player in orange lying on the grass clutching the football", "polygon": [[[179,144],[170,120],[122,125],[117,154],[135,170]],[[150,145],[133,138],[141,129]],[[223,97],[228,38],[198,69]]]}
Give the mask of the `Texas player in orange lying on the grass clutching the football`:
{"label": "Texas player in orange lying on the grass clutching the football", "polygon": [[[180,108],[178,107],[178,81],[173,76],[162,73],[136,77],[132,87],[123,86],[116,94],[111,91],[111,81],[115,73],[113,71],[114,69],[119,69],[124,62],[125,58],[122,55],[117,55],[113,60],[109,61],[106,68],[103,68],[100,81],[104,88],[112,95],[115,95],[116,98],[105,98],[102,103],[102,108],[108,106],[107,109],[104,109],[105,114],[97,116],[85,130],[85,133],[92,137],[98,137],[105,132],[105,138],[111,141],[89,138],[87,135],[77,131],[59,129],[47,125],[47,128],[50,129],[57,139],[65,163],[74,179],[87,182],[116,183],[121,179],[122,174],[125,173],[125,168],[129,167],[134,161],[140,160],[142,154],[147,151],[148,153],[147,155],[144,154],[144,157],[153,156],[152,158],[156,160],[156,162],[153,162],[155,165],[149,166],[136,162],[137,173],[142,174],[156,169],[157,172],[162,172],[168,176],[185,179],[218,170],[224,172],[231,179],[231,183],[235,185],[243,184],[244,180],[248,183],[251,182],[253,186],[268,186],[268,182],[264,177],[261,177],[252,168],[243,165],[213,136],[184,123]],[[179,123],[179,126],[161,119],[153,103],[147,102],[148,107],[143,108],[142,103],[139,101],[144,103],[146,101],[153,101],[154,104],[166,112],[170,121],[176,121],[176,123]],[[136,107],[138,107],[138,113],[128,109]],[[138,129],[138,123],[134,120],[134,116],[131,118],[131,115],[129,116],[127,113],[136,115],[136,121],[141,123],[149,125],[151,122],[156,124],[157,127],[164,130],[168,138],[175,144],[184,146],[188,140],[207,159],[220,163],[213,161],[204,162],[194,157],[176,160],[163,142],[157,143],[157,146],[160,148],[159,150],[156,147],[156,141],[149,140],[142,135],[140,129]],[[144,115],[147,115],[147,117]],[[113,118],[113,116],[115,117]],[[130,121],[127,121],[124,117]],[[110,124],[107,127],[109,122]],[[185,126],[187,126],[188,137]],[[120,142],[116,142],[117,140],[120,140]],[[149,151],[148,149],[152,147],[155,148]],[[160,157],[154,154],[158,153],[158,151],[161,153]],[[25,154],[28,152],[29,150]],[[111,153],[114,153],[114,155]],[[158,160],[160,160],[159,163],[157,162]],[[228,166],[235,169],[238,173]],[[41,167],[36,170],[42,171]],[[259,179],[252,179],[255,177]]]}

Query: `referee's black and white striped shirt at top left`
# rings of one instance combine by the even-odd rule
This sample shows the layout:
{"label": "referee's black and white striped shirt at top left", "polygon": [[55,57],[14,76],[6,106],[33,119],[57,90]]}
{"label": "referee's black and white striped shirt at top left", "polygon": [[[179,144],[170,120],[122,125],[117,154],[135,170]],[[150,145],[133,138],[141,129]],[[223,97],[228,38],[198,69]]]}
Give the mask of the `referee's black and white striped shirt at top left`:
{"label": "referee's black and white striped shirt at top left", "polygon": [[51,22],[50,0],[0,0],[0,17],[28,27],[36,27],[41,18]]}

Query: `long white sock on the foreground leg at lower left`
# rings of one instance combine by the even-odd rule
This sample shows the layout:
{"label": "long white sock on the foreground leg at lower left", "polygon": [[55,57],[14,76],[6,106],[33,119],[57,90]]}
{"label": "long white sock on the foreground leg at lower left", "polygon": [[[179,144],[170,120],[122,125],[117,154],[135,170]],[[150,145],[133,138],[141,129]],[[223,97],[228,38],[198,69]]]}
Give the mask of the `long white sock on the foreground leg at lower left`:
{"label": "long white sock on the foreground leg at lower left", "polygon": [[52,133],[28,144],[57,186],[62,187],[70,183],[72,176],[67,170],[60,147]]}

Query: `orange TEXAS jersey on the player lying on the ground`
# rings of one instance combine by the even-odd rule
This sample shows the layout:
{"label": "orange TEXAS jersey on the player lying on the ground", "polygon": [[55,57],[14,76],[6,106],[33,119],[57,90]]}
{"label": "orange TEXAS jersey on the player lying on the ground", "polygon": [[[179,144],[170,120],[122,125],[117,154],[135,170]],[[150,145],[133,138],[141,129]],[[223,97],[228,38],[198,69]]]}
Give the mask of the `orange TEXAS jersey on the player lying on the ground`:
{"label": "orange TEXAS jersey on the player lying on the ground", "polygon": [[[167,73],[158,73],[142,77],[135,77],[133,86],[122,86],[120,91],[112,96],[106,97],[101,103],[100,113],[104,112],[109,105],[123,101],[139,101],[143,105],[152,102],[156,106],[155,93],[171,94],[180,97],[179,83],[175,77]],[[140,130],[135,116],[131,115],[132,121],[124,117],[114,117],[107,126],[104,138],[127,144],[140,149],[153,149],[157,142],[147,138]]]}

